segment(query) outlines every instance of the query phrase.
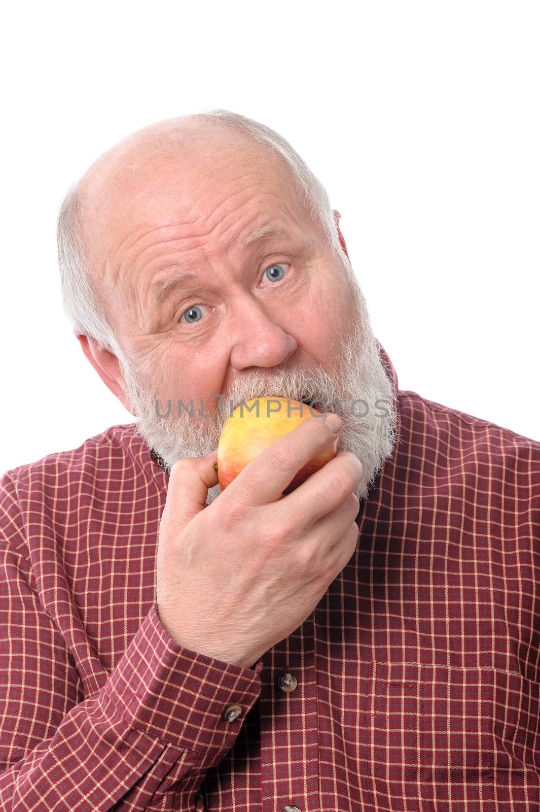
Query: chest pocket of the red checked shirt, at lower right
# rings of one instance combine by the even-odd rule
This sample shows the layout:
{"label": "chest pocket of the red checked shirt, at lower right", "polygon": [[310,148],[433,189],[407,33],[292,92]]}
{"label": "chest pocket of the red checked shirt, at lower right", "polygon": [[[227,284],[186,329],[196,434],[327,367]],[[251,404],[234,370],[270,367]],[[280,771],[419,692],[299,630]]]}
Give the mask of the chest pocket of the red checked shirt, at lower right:
{"label": "chest pocket of the red checked shirt, at lower right", "polygon": [[491,667],[372,663],[375,808],[538,812],[540,684]]}

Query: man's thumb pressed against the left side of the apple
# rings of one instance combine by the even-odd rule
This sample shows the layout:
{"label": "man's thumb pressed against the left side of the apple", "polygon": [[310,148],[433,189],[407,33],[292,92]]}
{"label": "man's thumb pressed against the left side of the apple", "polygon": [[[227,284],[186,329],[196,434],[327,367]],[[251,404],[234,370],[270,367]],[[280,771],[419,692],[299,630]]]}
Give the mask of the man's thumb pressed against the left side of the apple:
{"label": "man's thumb pressed against the left side of the apple", "polygon": [[206,507],[208,488],[218,484],[216,463],[214,449],[208,456],[177,460],[170,469],[164,513],[178,532]]}

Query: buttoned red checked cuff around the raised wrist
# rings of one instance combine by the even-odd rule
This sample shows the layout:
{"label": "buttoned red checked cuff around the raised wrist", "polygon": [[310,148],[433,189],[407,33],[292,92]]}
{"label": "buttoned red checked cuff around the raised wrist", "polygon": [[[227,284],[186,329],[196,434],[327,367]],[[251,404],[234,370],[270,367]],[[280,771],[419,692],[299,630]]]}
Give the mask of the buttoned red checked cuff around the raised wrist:
{"label": "buttoned red checked cuff around the raised wrist", "polygon": [[[156,603],[100,692],[103,711],[131,727],[195,752],[229,750],[262,688],[262,657],[252,668],[178,646]],[[242,713],[227,721],[229,705]]]}

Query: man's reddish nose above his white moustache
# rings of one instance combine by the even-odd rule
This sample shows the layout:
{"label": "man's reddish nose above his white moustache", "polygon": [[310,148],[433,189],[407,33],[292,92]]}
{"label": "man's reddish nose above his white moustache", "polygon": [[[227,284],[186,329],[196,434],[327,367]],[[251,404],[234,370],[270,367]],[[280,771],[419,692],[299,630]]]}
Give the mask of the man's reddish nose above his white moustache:
{"label": "man's reddish nose above his white moustache", "polygon": [[[283,321],[286,322],[286,316]],[[277,366],[298,347],[296,339],[268,315],[264,302],[251,296],[237,302],[231,324],[234,324],[234,332],[230,364],[234,369]]]}

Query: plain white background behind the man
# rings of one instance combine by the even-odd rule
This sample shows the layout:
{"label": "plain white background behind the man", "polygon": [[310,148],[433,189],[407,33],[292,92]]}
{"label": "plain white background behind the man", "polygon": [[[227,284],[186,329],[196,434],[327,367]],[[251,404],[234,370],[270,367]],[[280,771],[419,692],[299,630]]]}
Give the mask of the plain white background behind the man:
{"label": "plain white background behind the man", "polygon": [[10,6],[2,473],[135,420],[63,313],[58,206],[129,132],[213,107],[327,188],[400,388],[540,439],[537,2]]}

